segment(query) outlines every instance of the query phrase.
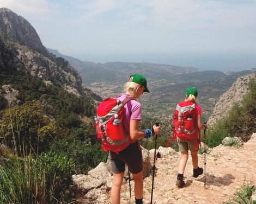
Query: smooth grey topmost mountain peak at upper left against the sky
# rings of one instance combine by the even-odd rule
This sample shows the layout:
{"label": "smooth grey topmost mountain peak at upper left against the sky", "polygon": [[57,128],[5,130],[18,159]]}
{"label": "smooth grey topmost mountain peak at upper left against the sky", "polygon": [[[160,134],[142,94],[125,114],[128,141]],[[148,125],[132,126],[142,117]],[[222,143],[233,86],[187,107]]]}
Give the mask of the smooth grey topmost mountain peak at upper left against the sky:
{"label": "smooth grey topmost mountain peak at upper left against the sky", "polygon": [[0,8],[0,37],[4,41],[15,41],[39,53],[47,52],[32,25],[8,8]]}

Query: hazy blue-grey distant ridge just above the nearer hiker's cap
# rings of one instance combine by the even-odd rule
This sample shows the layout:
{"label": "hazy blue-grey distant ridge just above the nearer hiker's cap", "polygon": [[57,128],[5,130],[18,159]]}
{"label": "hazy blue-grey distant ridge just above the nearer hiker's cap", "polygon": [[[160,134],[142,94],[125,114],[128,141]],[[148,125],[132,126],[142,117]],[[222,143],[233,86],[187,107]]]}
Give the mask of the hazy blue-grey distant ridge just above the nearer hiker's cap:
{"label": "hazy blue-grey distant ridge just above the nearer hiker's cap", "polygon": [[78,72],[80,72],[83,84],[90,86],[95,82],[124,83],[131,74],[141,73],[146,78],[154,80],[170,79],[174,75],[196,72],[194,67],[179,67],[173,65],[161,65],[155,63],[133,62],[107,62],[94,63],[81,61],[70,56],[63,55],[58,50],[49,49],[49,52],[68,60]]}

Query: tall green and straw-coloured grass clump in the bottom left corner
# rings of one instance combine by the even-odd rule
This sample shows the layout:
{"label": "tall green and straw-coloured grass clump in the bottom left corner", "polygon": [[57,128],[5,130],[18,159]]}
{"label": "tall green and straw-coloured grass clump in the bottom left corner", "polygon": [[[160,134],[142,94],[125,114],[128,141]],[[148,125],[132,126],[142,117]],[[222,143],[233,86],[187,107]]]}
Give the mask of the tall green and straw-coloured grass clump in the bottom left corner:
{"label": "tall green and straw-coloured grass clump in the bottom left corner", "polygon": [[1,203],[46,203],[45,171],[31,157],[0,168]]}

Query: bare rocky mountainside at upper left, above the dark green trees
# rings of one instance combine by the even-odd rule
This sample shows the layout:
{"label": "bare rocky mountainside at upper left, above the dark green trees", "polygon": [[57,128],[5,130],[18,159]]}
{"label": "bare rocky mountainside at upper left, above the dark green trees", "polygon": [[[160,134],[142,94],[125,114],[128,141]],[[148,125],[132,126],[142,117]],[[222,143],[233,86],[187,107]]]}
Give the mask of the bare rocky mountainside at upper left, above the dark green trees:
{"label": "bare rocky mountainside at upper left, above the dark green trees", "polygon": [[50,54],[32,25],[7,8],[0,9],[0,46],[1,69],[9,71],[11,67],[41,78],[47,85],[83,94],[82,79],[76,69]]}

